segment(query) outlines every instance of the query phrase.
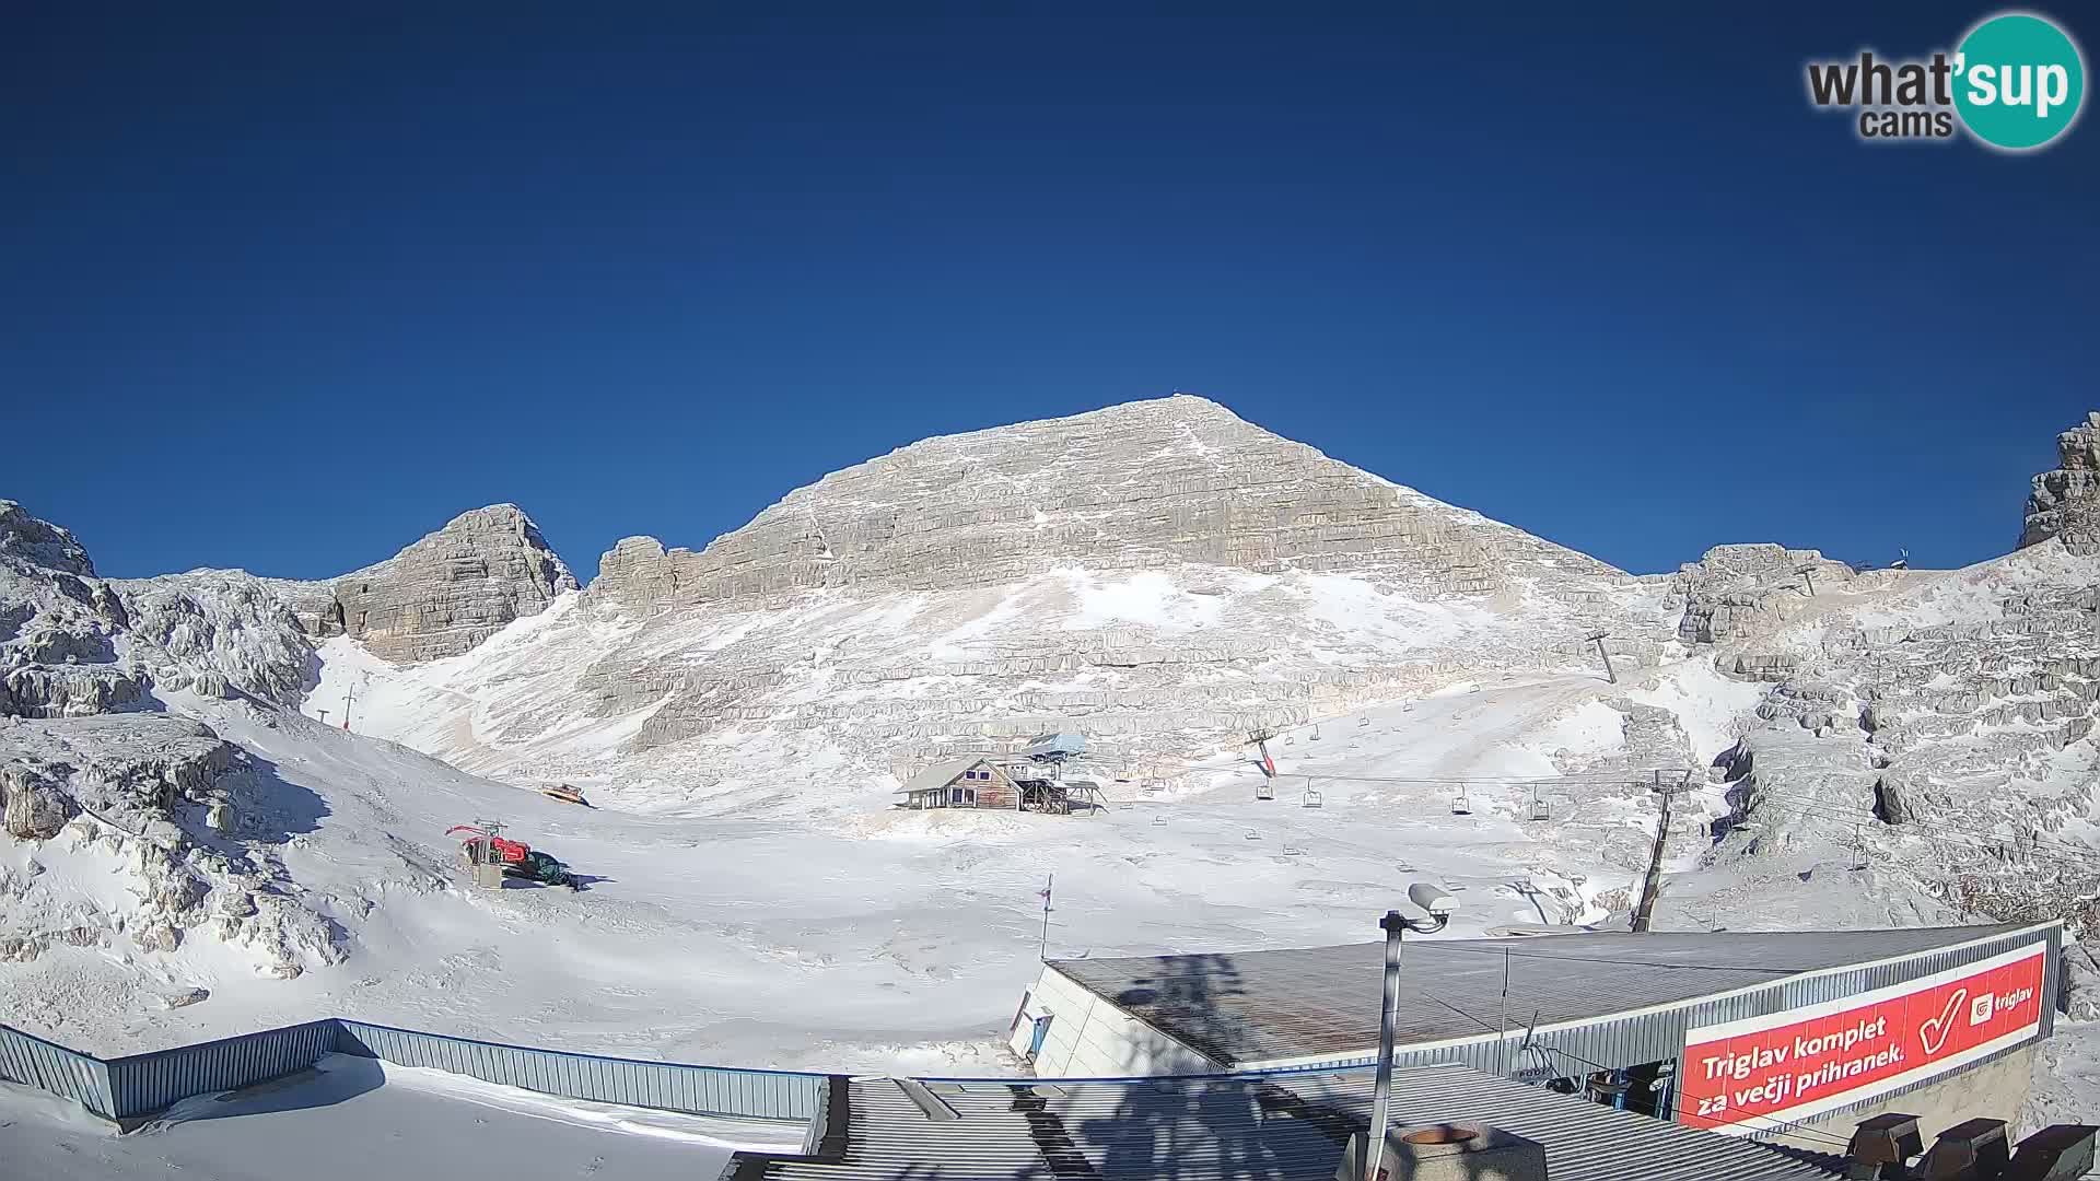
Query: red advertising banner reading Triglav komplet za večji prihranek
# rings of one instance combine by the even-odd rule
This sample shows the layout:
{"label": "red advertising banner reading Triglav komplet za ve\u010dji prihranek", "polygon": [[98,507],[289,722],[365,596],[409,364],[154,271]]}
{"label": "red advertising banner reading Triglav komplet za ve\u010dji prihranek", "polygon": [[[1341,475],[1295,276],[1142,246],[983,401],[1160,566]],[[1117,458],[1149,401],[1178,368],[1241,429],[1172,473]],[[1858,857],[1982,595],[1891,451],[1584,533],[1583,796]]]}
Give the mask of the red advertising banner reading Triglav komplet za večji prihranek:
{"label": "red advertising banner reading Triglav komplet za ve\u010dji prihranek", "polygon": [[2041,1030],[2048,944],[1858,996],[1695,1025],[1678,1120],[1747,1135],[1949,1072]]}

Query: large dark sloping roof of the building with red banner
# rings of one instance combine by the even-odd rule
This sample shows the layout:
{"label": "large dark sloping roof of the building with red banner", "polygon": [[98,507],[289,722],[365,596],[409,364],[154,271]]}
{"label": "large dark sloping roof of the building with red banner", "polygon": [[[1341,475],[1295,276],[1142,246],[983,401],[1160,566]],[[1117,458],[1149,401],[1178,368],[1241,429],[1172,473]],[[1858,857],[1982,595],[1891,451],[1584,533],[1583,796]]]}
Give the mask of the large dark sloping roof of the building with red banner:
{"label": "large dark sloping roof of the building with red banner", "polygon": [[[2018,931],[1653,931],[1529,939],[1409,939],[1401,962],[1396,1044],[1441,1042],[1514,1025],[1581,1021],[1774,983]],[[1504,954],[1508,952],[1508,956]],[[1075,983],[1222,1068],[1371,1053],[1384,944],[1050,960]]]}

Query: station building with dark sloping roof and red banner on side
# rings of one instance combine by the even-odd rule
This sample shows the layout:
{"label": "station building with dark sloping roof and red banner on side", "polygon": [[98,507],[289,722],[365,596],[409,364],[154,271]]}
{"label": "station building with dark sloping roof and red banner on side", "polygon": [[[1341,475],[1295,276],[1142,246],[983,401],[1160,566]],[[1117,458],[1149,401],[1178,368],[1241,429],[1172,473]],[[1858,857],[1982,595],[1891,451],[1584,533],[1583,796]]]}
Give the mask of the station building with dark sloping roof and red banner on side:
{"label": "station building with dark sloping roof and red banner on side", "polygon": [[[1394,1063],[1756,1139],[1875,1112],[2014,1120],[2062,925],[1407,939]],[[1050,960],[1010,1047],[1040,1078],[1373,1065],[1382,944]]]}

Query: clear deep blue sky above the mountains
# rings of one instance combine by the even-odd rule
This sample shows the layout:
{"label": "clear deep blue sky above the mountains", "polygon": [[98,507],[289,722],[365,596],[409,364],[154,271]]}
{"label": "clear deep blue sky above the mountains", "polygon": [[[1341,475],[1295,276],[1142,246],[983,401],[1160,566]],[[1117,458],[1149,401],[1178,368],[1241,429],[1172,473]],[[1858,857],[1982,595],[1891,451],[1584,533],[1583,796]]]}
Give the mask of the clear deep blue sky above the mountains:
{"label": "clear deep blue sky above the mountains", "polygon": [[2100,406],[2100,124],[1875,149],[1802,84],[1991,8],[1464,8],[19,4],[0,496],[113,576],[517,500],[588,578],[1186,389],[1638,572],[2010,548]]}

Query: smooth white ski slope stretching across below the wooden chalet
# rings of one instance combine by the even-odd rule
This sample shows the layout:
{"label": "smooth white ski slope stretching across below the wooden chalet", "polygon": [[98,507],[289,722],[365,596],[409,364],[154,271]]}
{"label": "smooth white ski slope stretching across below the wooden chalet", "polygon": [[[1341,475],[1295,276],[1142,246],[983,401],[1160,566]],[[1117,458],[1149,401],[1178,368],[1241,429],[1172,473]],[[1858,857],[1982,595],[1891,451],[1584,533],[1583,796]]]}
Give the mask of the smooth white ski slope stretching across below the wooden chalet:
{"label": "smooth white ski slope stretching across below the wooden chalet", "polygon": [[[97,996],[32,1007],[27,1023],[101,1053],[332,1013],[672,1061],[1002,1072],[1050,874],[1052,956],[1371,939],[1420,878],[1462,889],[1451,935],[1600,918],[1596,895],[1634,870],[1594,855],[1594,826],[1644,843],[1638,801],[1535,824],[1518,788],[1480,790],[1453,815],[1438,786],[1340,775],[1550,773],[1535,738],[1609,748],[1594,710],[1621,689],[1562,677],[1327,719],[1302,757],[1279,746],[1275,801],[1256,801],[1260,773],[1228,757],[1178,792],[1124,786],[1098,815],[911,813],[876,786],[857,813],[800,820],[582,809],[309,717],[183,698],[286,792],[313,796],[313,830],[273,855],[340,925],[346,960],[277,981],[208,939],[116,973],[105,950],[52,948],[10,986]],[[1329,784],[1323,807],[1302,807],[1302,773]],[[475,820],[502,820],[586,889],[468,889],[445,828]],[[160,1004],[185,988],[210,998]]]}

